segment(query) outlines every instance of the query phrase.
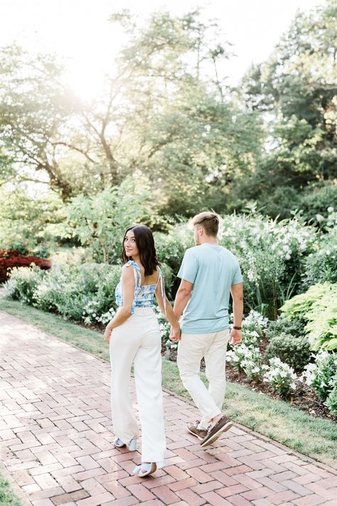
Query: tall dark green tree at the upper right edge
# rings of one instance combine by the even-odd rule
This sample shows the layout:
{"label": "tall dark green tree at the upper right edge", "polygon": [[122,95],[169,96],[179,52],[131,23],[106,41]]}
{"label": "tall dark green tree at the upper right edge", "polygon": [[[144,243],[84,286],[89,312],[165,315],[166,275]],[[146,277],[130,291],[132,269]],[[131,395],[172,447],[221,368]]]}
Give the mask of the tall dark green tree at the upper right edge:
{"label": "tall dark green tree at the upper right edge", "polygon": [[273,188],[299,193],[336,177],[336,48],[337,3],[329,0],[297,14],[271,57],[245,76],[242,98],[262,113],[269,134],[251,198],[265,203]]}

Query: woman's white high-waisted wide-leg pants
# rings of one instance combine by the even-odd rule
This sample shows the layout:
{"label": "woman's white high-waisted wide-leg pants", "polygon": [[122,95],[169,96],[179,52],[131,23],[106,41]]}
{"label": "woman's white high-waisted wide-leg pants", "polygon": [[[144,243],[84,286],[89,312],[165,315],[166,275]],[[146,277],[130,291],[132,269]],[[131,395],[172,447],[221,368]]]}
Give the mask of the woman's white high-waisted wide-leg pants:
{"label": "woman's white high-waisted wide-leg pants", "polygon": [[161,390],[161,333],[153,308],[135,308],[134,315],[112,330],[112,421],[123,443],[139,436],[130,398],[130,371],[141,422],[141,461],[163,464],[166,451],[163,393]]}

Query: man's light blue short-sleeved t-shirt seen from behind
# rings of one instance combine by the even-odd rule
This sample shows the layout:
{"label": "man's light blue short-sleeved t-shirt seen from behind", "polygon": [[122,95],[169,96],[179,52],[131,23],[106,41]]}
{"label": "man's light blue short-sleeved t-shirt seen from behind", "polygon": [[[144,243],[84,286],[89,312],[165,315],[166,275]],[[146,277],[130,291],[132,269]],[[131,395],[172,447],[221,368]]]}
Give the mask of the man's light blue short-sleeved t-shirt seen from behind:
{"label": "man's light blue short-sleeved t-shirt seen from behind", "polygon": [[230,286],[242,283],[237,257],[219,244],[200,244],[186,250],[178,277],[193,283],[181,332],[208,334],[228,328]]}

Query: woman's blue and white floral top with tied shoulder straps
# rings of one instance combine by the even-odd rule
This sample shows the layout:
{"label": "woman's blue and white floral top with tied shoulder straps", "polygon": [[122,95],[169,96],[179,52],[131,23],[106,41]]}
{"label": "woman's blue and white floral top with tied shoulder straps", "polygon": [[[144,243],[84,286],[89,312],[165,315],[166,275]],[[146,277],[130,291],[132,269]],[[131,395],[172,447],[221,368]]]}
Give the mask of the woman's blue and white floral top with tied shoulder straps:
{"label": "woman's blue and white floral top with tied shoulder straps", "polygon": [[[141,270],[139,269],[137,262],[129,260],[129,262],[127,262],[125,265],[127,267],[132,266],[134,269],[134,300],[132,302],[131,314],[134,314],[134,308],[151,308],[154,306],[154,292],[156,291],[156,287],[159,283],[161,286],[161,296],[164,301],[164,309],[166,312],[164,276],[161,272],[161,269],[158,267],[159,278],[156,284],[142,285]],[[119,280],[119,284],[116,286],[115,296],[117,306],[123,306],[122,276]]]}

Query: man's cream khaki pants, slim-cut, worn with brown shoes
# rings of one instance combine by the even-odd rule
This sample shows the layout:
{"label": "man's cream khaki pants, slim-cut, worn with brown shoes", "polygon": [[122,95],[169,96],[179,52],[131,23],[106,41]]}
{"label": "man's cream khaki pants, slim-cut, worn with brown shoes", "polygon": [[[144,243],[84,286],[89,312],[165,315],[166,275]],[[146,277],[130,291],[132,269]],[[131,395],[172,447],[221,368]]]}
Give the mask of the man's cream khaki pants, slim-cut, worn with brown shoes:
{"label": "man's cream khaki pants, slim-cut, worn with brown shoes", "polygon": [[[225,397],[226,350],[230,331],[210,334],[181,334],[178,344],[178,368],[183,386],[201,413],[200,426],[207,429],[210,420],[221,413]],[[200,362],[205,357],[208,389],[200,379]]]}

